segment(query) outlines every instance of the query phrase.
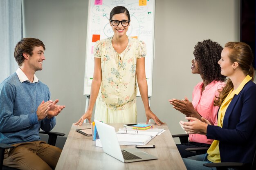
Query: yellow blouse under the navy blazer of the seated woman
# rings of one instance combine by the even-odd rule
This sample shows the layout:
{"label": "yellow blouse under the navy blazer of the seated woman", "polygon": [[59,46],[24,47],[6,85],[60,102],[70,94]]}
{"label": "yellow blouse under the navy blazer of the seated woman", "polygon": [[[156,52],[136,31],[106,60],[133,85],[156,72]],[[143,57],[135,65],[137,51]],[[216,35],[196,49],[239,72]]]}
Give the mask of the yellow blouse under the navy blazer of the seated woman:
{"label": "yellow blouse under the navy blazer of the seated woman", "polygon": [[[222,128],[223,125],[223,118],[225,116],[226,110],[233,99],[234,95],[238,95],[240,91],[242,91],[243,87],[247,82],[249,82],[252,79],[249,75],[243,79],[243,82],[238,86],[236,90],[233,91],[233,89],[229,92],[227,97],[225,98],[224,102],[220,106],[220,110],[218,112],[218,125]],[[207,151],[208,157],[207,159],[211,162],[218,163],[220,161],[220,150],[219,150],[219,141],[214,140],[213,143],[211,144],[210,148]]]}

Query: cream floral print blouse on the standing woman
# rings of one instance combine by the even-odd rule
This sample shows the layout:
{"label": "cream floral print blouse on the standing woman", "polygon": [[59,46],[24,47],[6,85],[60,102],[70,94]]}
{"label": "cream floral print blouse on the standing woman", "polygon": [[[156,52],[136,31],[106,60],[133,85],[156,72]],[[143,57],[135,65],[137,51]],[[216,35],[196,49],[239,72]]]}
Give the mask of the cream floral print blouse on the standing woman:
{"label": "cream floral print blouse on the standing woman", "polygon": [[99,40],[94,46],[94,57],[101,58],[101,90],[99,101],[112,110],[124,110],[136,102],[137,58],[146,56],[143,41],[128,37],[128,46],[117,53],[112,46],[112,37]]}

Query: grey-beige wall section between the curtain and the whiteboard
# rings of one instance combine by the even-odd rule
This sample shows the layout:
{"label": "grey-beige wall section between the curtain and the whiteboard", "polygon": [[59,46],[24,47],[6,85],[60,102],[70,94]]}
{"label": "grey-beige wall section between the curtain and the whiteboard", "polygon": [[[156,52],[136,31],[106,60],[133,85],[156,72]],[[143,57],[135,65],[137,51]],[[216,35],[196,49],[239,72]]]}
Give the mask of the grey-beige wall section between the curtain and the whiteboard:
{"label": "grey-beige wall section between the curtain and the whiteboard", "polygon": [[66,136],[85,111],[87,6],[85,0],[23,0],[24,37],[39,38],[46,47],[43,70],[36,75],[49,86],[51,99],[66,106],[54,128]]}

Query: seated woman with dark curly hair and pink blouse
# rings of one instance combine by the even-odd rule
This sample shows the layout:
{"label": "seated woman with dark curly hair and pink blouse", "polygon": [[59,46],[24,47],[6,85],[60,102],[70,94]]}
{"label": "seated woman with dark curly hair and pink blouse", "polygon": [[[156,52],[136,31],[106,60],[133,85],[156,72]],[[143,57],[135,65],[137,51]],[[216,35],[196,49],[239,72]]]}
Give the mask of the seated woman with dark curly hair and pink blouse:
{"label": "seated woman with dark curly hair and pink blouse", "polygon": [[[220,54],[222,46],[211,40],[198,42],[194,48],[194,59],[192,62],[192,73],[200,74],[202,82],[199,82],[193,90],[192,102],[187,97],[182,100],[171,99],[170,104],[173,108],[180,111],[186,117],[195,117],[197,119],[207,119],[210,124],[217,124],[218,106],[213,106],[213,102],[218,97],[220,89],[226,76],[220,74]],[[183,158],[200,155],[202,152],[191,153],[185,151],[186,148],[209,147],[213,140],[207,139],[205,135],[189,135],[189,143],[177,144],[180,155]]]}

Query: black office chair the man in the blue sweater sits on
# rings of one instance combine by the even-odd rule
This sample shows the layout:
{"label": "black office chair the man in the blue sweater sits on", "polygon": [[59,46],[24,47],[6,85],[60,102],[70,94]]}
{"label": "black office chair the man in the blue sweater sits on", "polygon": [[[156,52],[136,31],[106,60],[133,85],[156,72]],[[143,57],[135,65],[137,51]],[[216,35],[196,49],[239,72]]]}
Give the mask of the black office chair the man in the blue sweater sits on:
{"label": "black office chair the man in the blue sweater sits on", "polygon": [[[60,133],[60,132],[44,132],[44,131],[40,131],[39,133],[49,135],[47,143],[52,145],[52,146],[55,146],[56,140],[57,140],[58,136],[65,136],[65,133]],[[9,148],[14,148],[14,146],[7,145],[7,144],[0,144],[0,170],[18,170],[16,168],[11,168],[11,167],[8,167],[8,166],[3,166],[4,150],[5,149],[9,149]]]}

